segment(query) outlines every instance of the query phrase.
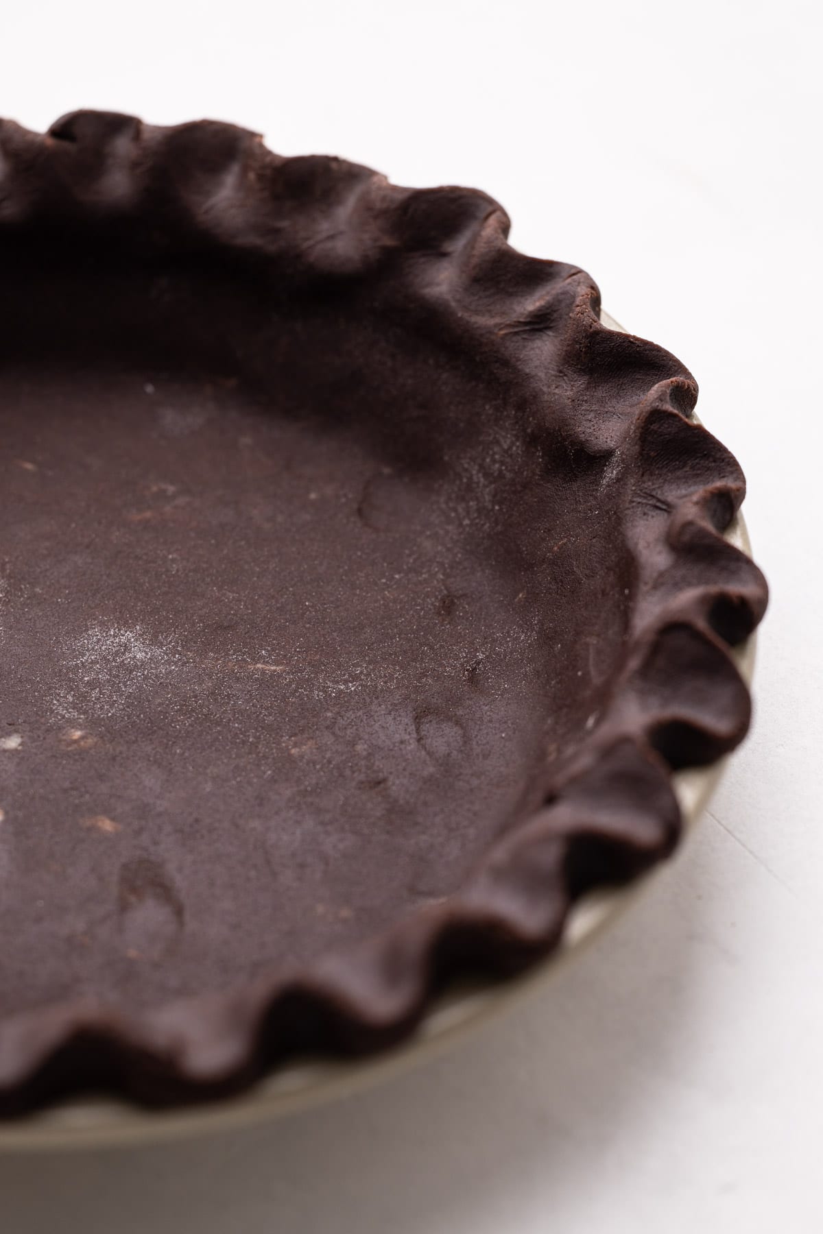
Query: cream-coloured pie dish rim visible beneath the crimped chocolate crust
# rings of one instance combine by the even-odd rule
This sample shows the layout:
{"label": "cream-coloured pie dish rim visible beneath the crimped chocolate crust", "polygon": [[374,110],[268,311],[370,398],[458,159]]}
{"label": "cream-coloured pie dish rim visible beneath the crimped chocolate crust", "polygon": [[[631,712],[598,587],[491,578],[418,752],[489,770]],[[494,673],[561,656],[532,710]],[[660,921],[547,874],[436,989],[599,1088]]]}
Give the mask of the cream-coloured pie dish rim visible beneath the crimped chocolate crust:
{"label": "cream-coloured pie dish rim visible beneath the crimped chocolate crust", "polygon": [[[607,312],[600,316],[610,329],[624,333]],[[751,557],[742,513],[738,512],[724,534],[729,543]],[[753,633],[732,652],[749,686],[755,640]],[[672,775],[686,835],[708,806],[727,761],[728,758],[722,758],[708,766]],[[454,982],[432,1003],[413,1033],[389,1050],[363,1059],[292,1059],[279,1064],[270,1075],[236,1097],[170,1109],[146,1109],[115,1096],[72,1097],[21,1118],[0,1122],[0,1153],[102,1149],[188,1139],[263,1123],[370,1088],[450,1049],[471,1030],[542,987],[616,922],[661,869],[663,863],[658,863],[627,886],[602,887],[581,897],[569,913],[559,945],[544,959],[506,981]]]}

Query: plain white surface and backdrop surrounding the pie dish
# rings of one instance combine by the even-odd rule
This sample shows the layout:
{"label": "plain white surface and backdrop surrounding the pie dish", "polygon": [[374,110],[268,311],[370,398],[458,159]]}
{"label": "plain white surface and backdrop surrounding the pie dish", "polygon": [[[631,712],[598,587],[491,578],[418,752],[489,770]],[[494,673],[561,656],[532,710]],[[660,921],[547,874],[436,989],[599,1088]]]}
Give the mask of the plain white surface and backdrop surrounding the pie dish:
{"label": "plain white surface and backdrop surrounding the pie dish", "polygon": [[675,350],[772,587],[756,724],[645,900],[531,1002],[369,1095],[183,1148],[0,1160],[10,1234],[823,1229],[821,9],[5,6],[0,114],[211,116],[497,196]]}

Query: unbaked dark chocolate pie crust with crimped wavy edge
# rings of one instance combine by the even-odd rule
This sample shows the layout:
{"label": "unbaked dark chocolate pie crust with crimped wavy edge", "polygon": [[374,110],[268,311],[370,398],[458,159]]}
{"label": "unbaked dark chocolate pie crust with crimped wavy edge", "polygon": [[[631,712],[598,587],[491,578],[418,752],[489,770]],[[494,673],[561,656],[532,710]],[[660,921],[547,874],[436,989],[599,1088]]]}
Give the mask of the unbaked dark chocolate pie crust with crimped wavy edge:
{"label": "unbaked dark chocolate pie crust with crimped wavy edge", "polygon": [[0,174],[0,1109],[374,1055],[672,851],[739,466],[484,194],[94,112]]}

